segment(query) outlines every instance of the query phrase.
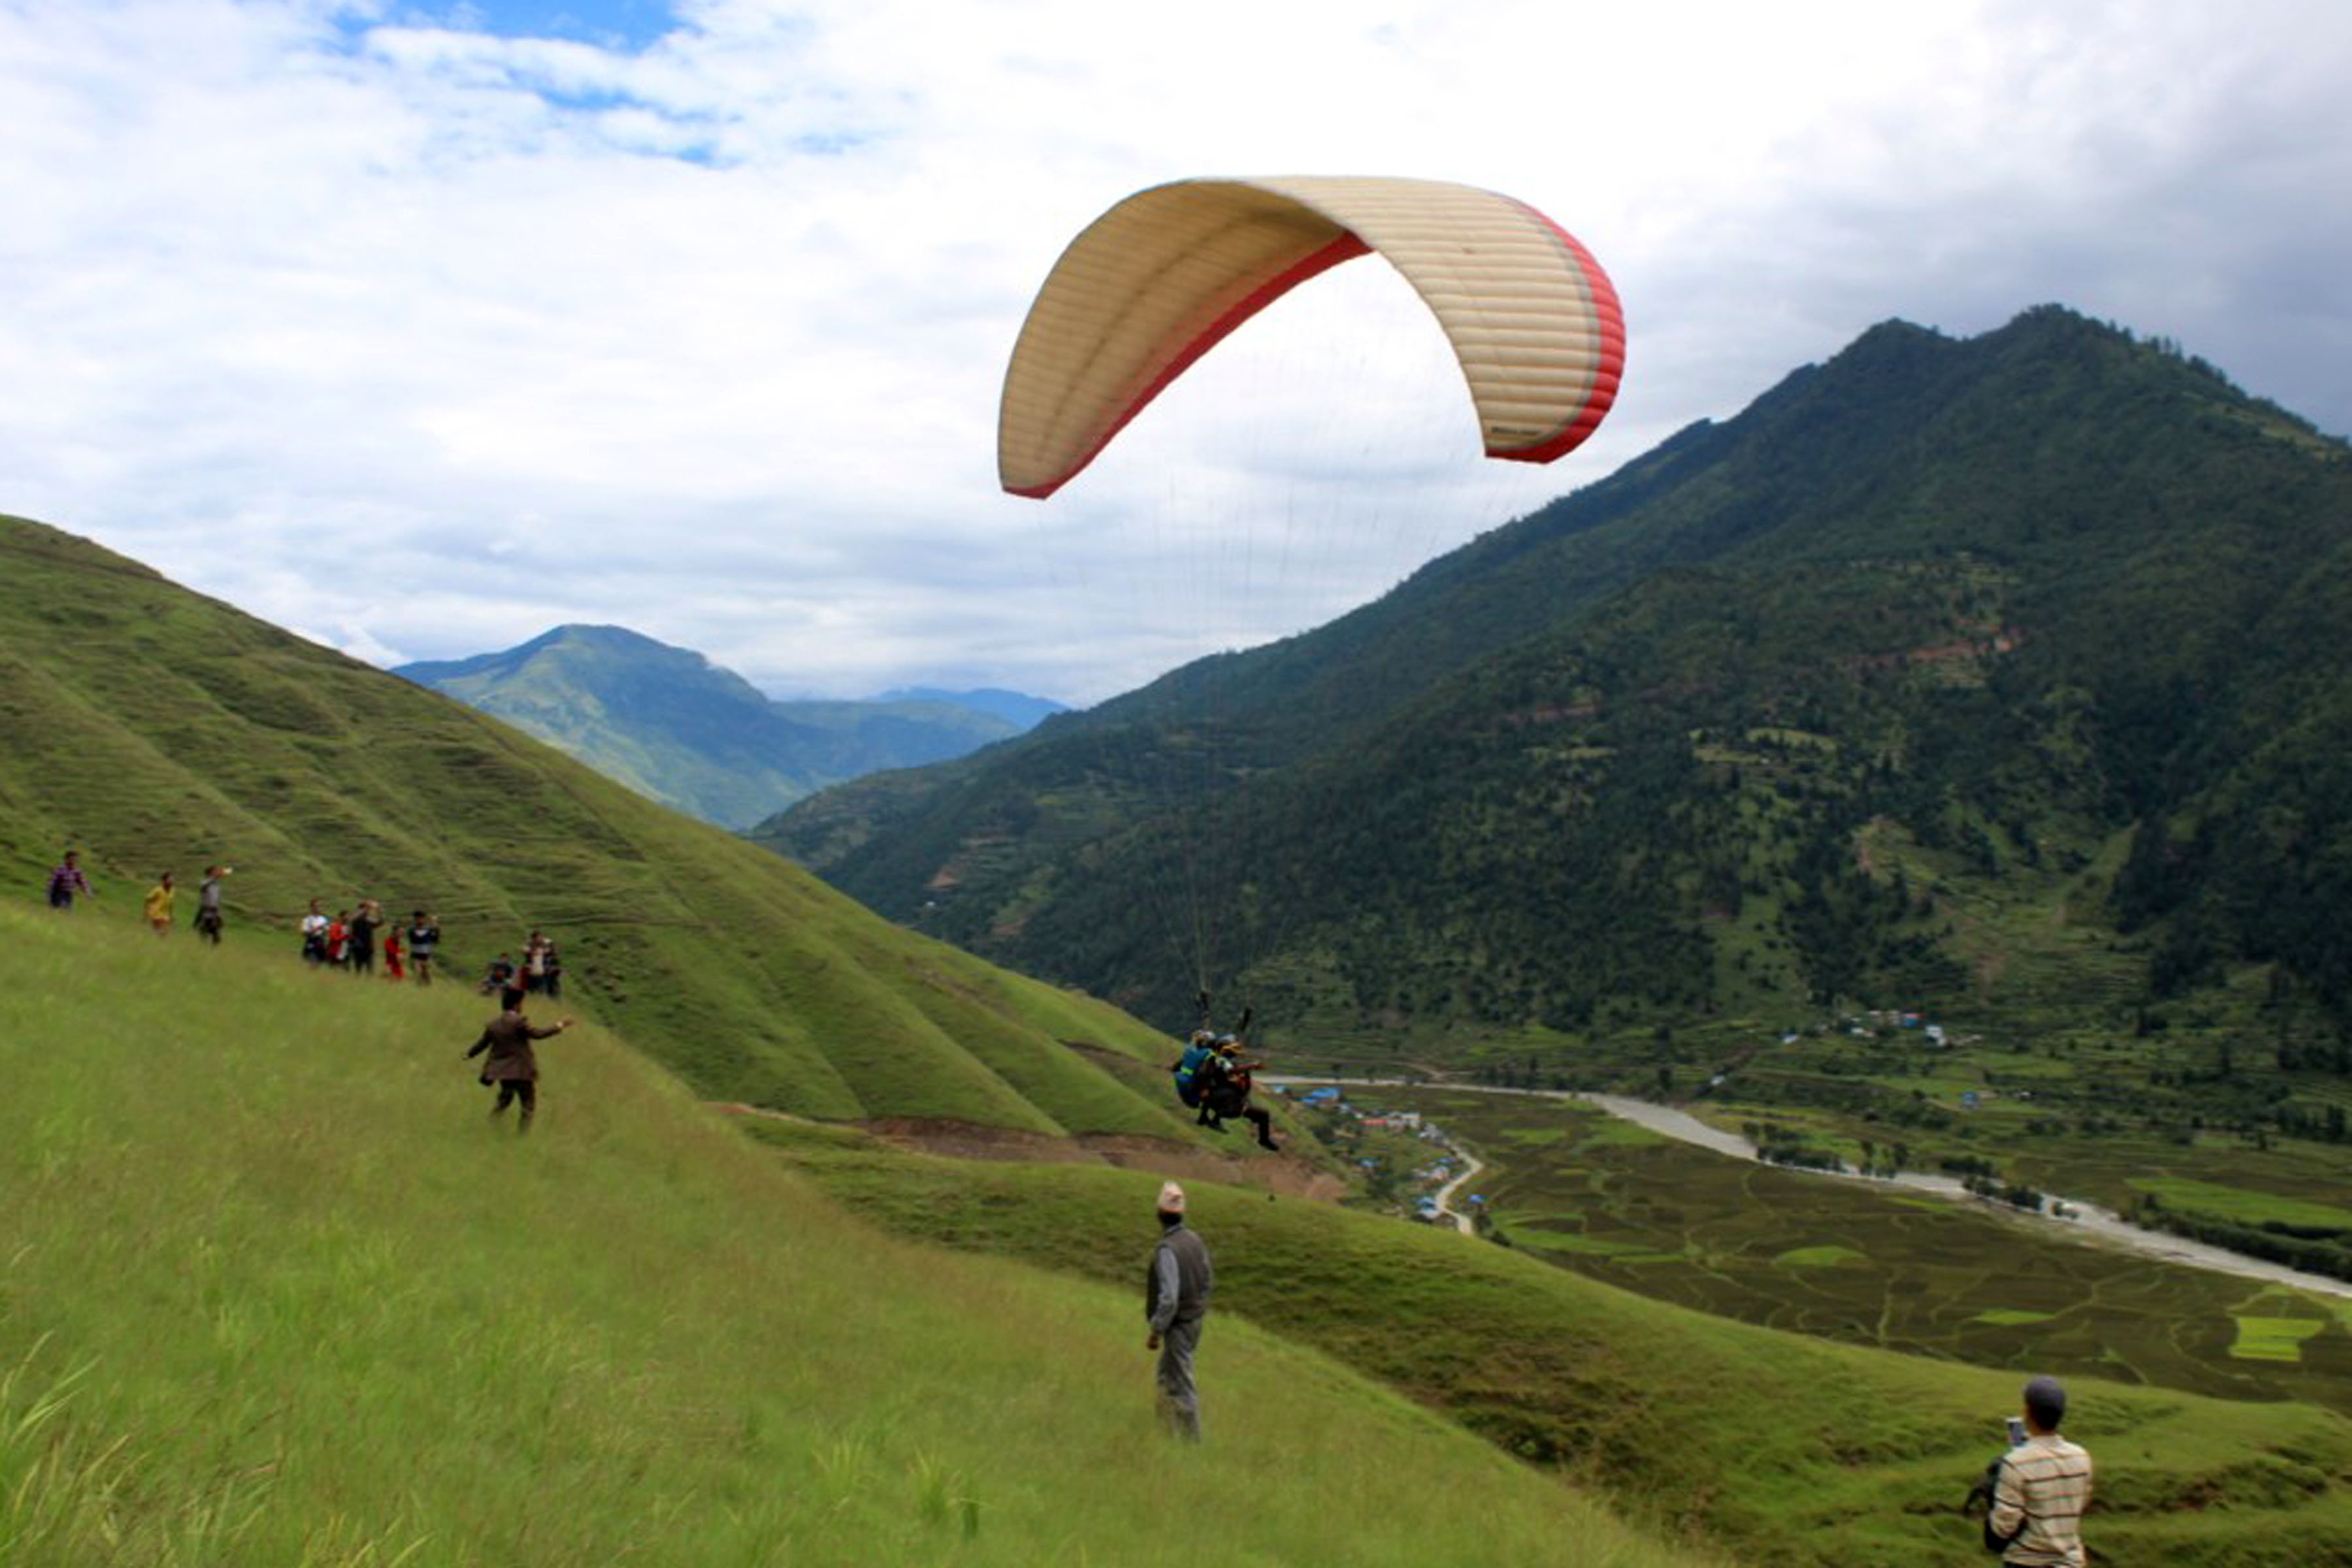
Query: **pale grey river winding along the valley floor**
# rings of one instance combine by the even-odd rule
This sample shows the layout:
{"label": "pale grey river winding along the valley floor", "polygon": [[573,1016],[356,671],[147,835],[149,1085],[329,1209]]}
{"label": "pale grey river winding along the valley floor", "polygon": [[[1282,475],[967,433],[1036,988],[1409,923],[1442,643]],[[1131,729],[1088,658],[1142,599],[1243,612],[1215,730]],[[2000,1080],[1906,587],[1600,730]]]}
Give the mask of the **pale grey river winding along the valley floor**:
{"label": "pale grey river winding along the valley floor", "polygon": [[[1635,1100],[1628,1095],[1602,1095],[1566,1088],[1505,1088],[1498,1084],[1406,1084],[1402,1079],[1331,1079],[1331,1077],[1284,1077],[1284,1079],[1261,1079],[1265,1084],[1348,1084],[1362,1088],[1439,1088],[1446,1093],[1486,1093],[1486,1095],[1519,1095],[1524,1100],[1578,1100],[1583,1105],[1595,1105],[1621,1121],[1632,1121],[1663,1138],[1677,1143],[1689,1143],[1729,1159],[1755,1159],[1757,1150],[1752,1143],[1738,1133],[1726,1133],[1719,1126],[1708,1126],[1689,1112],[1679,1112],[1672,1105],[1656,1105],[1653,1100]],[[2211,1274],[2234,1274],[2237,1279],[2258,1279],[2272,1286],[2291,1286],[2296,1291],[2312,1291],[2314,1295],[2352,1298],[2352,1281],[2328,1279],[2326,1274],[2305,1274],[2303,1269],[2291,1269],[2279,1262],[2265,1262],[2263,1258],[2249,1258],[2244,1253],[2232,1253],[2225,1246],[2211,1246],[2206,1241],[2190,1241],[2185,1237],[2169,1237],[2154,1229],[2140,1229],[2124,1215],[2091,1204],[2089,1199],[2070,1199],[2060,1194],[2046,1194],[2053,1206],[2065,1206],[2072,1213],[2056,1215],[2049,1211],[2027,1211],[2011,1204],[1999,1204],[1994,1199],[1978,1197],[1962,1187],[1950,1175],[1929,1175],[1924,1171],[1898,1171],[1896,1175],[1860,1175],[1858,1171],[1811,1171],[1804,1166],[1776,1166],[1795,1175],[1816,1175],[1835,1182],[1867,1182],[1872,1187],[1903,1187],[1907,1192],[1926,1192],[1955,1204],[1973,1204],[1987,1208],[2004,1220],[2016,1220],[2020,1225],[2044,1225],[2056,1227],[2058,1234],[2084,1246],[2110,1246],[2126,1253],[2138,1253],[2143,1258],[2154,1258],[2159,1262],[2176,1262],[2190,1269],[2206,1269]]]}

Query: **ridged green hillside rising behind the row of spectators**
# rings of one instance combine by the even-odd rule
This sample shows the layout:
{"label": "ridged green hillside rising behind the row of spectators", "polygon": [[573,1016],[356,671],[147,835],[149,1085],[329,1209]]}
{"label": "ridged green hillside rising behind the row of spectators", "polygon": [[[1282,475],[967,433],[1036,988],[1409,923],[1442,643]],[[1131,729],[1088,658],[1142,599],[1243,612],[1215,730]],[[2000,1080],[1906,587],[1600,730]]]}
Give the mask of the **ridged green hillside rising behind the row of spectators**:
{"label": "ridged green hillside rising behind the row of spectators", "polygon": [[[1065,1041],[1164,1041],[898,931],[814,877],[548,745],[153,571],[0,517],[0,884],[64,846],[129,919],[160,867],[238,867],[230,931],[430,907],[473,978],[546,929],[567,990],[710,1098],[826,1119],[1192,1138]],[[80,914],[78,914],[80,917]],[[263,936],[266,933],[266,936]],[[186,936],[186,933],[183,933]]]}

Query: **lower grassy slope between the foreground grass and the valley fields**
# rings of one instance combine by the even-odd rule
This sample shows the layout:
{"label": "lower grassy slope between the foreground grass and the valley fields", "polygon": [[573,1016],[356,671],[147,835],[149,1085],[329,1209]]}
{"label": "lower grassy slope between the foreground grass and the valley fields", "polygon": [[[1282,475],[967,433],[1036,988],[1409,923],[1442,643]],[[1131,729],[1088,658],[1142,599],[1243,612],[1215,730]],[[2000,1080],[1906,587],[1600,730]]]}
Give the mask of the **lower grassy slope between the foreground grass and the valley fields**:
{"label": "lower grassy slope between the foreground grass and the valley fields", "polygon": [[[960,1166],[847,1135],[769,1138],[858,1213],[957,1248],[1117,1284],[1122,1171]],[[1327,1349],[1498,1446],[1738,1561],[1987,1561],[1959,1497],[2023,1373],[1830,1345],[1578,1279],[1451,1232],[1232,1190],[1195,1197],[1218,1300]],[[2122,1371],[2122,1368],[2119,1368]],[[2072,1378],[2098,1465],[2103,1568],[2352,1563],[2352,1422]]]}

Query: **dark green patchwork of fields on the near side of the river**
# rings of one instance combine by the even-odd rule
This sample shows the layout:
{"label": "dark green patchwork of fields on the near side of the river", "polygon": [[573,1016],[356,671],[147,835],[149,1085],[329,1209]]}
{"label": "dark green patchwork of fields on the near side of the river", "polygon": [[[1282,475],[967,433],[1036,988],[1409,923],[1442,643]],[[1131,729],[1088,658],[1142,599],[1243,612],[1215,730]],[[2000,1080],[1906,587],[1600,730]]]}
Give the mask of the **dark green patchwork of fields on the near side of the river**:
{"label": "dark green patchwork of fields on the near side of the river", "polygon": [[[1588,1105],[1414,1100],[1494,1164],[1479,1185],[1503,1239],[1590,1279],[1971,1366],[2352,1413],[2340,1314],[2352,1302],[2084,1246],[1983,1206],[1710,1154]],[[2237,1349],[2249,1316],[2305,1328],[2253,1335],[2256,1356]]]}

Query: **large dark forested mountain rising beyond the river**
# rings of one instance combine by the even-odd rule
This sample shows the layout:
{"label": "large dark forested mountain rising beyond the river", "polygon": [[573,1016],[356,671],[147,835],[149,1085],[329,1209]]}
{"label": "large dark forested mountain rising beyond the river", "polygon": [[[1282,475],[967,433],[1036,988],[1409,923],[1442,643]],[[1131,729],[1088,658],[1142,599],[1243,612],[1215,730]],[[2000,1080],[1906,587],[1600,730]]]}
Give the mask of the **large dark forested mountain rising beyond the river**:
{"label": "large dark forested mountain rising beyond the river", "polygon": [[[2343,1016],[2352,454],[2161,341],[1889,322],[1334,625],[757,837],[1164,1023]],[[2343,1051],[2340,1044],[2298,1046]]]}

